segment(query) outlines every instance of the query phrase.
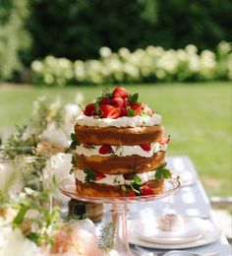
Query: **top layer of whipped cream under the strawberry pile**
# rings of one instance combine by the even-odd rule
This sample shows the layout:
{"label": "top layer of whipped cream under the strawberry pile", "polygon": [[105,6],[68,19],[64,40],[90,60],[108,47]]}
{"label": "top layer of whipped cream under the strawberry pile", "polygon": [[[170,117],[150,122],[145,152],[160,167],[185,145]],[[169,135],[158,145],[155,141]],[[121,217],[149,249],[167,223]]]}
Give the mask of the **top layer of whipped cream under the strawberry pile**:
{"label": "top layer of whipped cream under the strawberry pile", "polygon": [[81,126],[96,126],[96,127],[141,127],[153,126],[161,124],[161,116],[153,113],[151,116],[136,115],[133,117],[123,116],[116,119],[112,118],[99,118],[94,116],[87,116],[81,114],[76,118],[76,123]]}

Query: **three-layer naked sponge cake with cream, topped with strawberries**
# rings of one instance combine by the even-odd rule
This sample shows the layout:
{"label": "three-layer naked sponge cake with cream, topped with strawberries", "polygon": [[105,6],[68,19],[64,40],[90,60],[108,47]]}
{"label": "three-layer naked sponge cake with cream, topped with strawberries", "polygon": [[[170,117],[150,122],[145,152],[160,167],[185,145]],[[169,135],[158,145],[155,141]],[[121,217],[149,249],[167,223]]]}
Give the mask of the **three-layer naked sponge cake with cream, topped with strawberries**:
{"label": "three-layer naked sponge cake with cream, topped with strawberries", "polygon": [[135,197],[160,193],[165,178],[161,116],[117,87],[88,103],[72,135],[77,192],[91,197]]}

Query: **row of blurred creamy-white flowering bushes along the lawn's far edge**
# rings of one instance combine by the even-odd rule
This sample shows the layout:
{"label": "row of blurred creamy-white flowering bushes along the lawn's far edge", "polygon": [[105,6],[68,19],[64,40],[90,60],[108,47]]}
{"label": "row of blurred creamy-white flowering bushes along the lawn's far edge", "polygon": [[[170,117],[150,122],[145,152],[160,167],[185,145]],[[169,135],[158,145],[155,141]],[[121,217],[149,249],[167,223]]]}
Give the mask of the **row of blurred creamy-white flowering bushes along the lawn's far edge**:
{"label": "row of blurred creamy-white flowering bushes along the lawn's far edge", "polygon": [[147,46],[131,52],[120,48],[100,49],[98,60],[76,60],[47,56],[31,64],[34,83],[47,86],[72,84],[142,83],[155,81],[232,80],[232,43],[222,41],[215,53],[187,45],[164,50]]}

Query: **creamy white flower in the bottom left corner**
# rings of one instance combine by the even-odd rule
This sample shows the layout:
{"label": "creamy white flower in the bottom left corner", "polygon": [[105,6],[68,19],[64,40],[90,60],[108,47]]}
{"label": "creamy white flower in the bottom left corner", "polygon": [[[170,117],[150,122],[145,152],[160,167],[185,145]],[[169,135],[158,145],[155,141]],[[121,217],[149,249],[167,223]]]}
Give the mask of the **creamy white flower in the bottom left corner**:
{"label": "creamy white flower in the bottom left corner", "polygon": [[35,243],[25,238],[19,228],[1,226],[0,256],[38,256],[39,248]]}

